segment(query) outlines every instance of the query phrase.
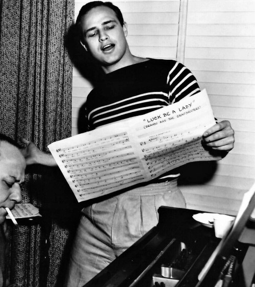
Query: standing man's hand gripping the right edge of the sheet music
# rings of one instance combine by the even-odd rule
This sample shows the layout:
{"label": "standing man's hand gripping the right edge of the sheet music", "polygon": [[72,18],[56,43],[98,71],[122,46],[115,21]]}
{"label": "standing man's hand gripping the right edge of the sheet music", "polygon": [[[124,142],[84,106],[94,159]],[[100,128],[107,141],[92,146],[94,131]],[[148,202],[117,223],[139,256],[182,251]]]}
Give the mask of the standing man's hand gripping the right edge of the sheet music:
{"label": "standing man's hand gripping the right edge of the sheet music", "polygon": [[213,150],[229,152],[234,148],[234,142],[234,130],[228,121],[215,124],[203,133],[202,144]]}

